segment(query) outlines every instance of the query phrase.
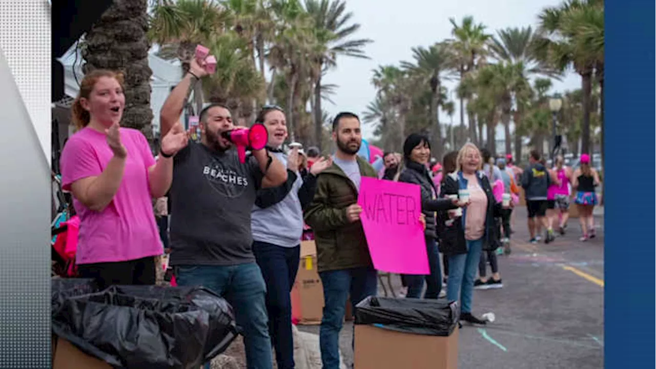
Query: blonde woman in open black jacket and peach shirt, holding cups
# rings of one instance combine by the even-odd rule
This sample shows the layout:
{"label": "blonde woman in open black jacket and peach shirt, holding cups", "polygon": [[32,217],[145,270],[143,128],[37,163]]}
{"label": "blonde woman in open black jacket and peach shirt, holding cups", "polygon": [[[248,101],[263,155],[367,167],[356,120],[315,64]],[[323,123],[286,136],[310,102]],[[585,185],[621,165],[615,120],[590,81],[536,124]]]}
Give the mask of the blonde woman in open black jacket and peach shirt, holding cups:
{"label": "blonde woman in open black jacket and peach shirt, holding cups", "polygon": [[460,319],[476,324],[485,321],[472,315],[474,279],[481,252],[500,246],[495,217],[501,216],[502,209],[481,167],[478,148],[471,143],[464,144],[458,153],[456,171],[445,177],[441,197],[459,196],[460,191],[466,190],[468,206],[462,215],[452,211],[441,211],[438,215],[440,251],[449,257],[447,299],[461,301]]}

